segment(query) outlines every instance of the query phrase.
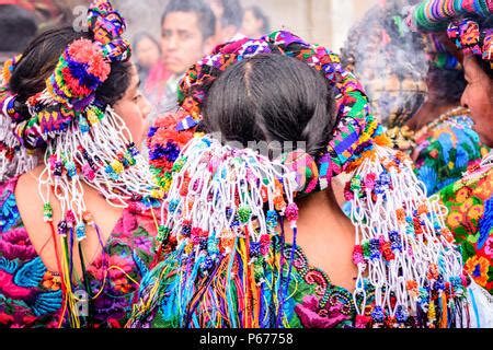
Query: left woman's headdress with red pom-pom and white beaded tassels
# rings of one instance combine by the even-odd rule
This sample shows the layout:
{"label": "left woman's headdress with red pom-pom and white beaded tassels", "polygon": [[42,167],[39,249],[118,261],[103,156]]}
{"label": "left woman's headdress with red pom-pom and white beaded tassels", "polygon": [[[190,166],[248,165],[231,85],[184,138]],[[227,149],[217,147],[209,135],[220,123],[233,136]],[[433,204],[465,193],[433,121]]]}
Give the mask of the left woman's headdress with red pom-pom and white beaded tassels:
{"label": "left woman's headdress with red pom-pom and white beaded tassels", "polygon": [[[160,194],[125,122],[111,106],[96,98],[99,89],[110,77],[111,65],[130,58],[130,47],[122,37],[125,21],[108,1],[96,0],[89,9],[88,24],[94,40],[81,38],[71,43],[46,80],[43,92],[22,104],[10,93],[13,61],[4,68],[0,96],[3,112],[0,152],[7,155],[0,160],[0,180],[31,171],[37,165],[34,152],[44,152],[46,167],[39,177],[39,195],[45,202],[44,219],[51,226],[55,242],[59,241],[59,246],[66,249],[59,268],[69,311],[77,310],[71,290],[71,247],[85,240],[88,228],[100,234],[87,211],[81,183],[121,208]],[[51,197],[61,207],[57,229],[53,223]],[[78,326],[77,315],[69,316],[71,325]]]}

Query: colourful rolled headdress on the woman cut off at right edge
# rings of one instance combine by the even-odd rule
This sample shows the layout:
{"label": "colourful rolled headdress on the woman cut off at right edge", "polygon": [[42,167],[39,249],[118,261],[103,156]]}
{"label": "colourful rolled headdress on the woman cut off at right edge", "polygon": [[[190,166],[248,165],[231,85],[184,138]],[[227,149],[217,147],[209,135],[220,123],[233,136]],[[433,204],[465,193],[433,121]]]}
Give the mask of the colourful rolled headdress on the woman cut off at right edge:
{"label": "colourful rolled headdress on the woman cut off at right edge", "polygon": [[493,69],[493,28],[481,28],[471,19],[492,15],[492,0],[427,0],[411,10],[408,22],[422,32],[447,31],[459,50],[480,56]]}

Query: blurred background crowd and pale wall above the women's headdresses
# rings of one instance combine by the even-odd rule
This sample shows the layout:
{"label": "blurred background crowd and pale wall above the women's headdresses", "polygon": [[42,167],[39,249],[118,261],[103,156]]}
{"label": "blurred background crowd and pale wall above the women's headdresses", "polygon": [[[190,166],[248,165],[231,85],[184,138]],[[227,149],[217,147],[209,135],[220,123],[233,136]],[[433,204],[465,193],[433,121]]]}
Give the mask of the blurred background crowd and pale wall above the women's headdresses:
{"label": "blurred background crowd and pale wall above the women's headdresses", "polygon": [[[153,116],[175,107],[177,83],[186,67],[219,43],[243,35],[262,36],[284,28],[340,52],[347,42],[351,27],[370,8],[385,2],[386,0],[114,0],[115,7],[128,22],[134,60],[140,71],[142,91],[154,106]],[[27,45],[36,31],[30,25],[32,19],[35,20],[37,32],[60,25],[77,25],[78,22],[83,23],[84,7],[89,3],[90,0],[0,0],[0,33],[3,32],[5,36],[0,40],[3,43],[3,47],[0,47],[2,57],[22,51],[22,46]],[[208,30],[204,4],[216,18],[216,31],[211,36],[206,33]],[[169,11],[164,14],[167,8]],[[176,16],[176,13],[187,15]],[[16,32],[18,35],[5,35],[9,32]],[[196,42],[194,33],[198,36],[202,33],[202,37],[195,37]],[[14,43],[7,44],[5,39],[9,40],[9,37]]]}

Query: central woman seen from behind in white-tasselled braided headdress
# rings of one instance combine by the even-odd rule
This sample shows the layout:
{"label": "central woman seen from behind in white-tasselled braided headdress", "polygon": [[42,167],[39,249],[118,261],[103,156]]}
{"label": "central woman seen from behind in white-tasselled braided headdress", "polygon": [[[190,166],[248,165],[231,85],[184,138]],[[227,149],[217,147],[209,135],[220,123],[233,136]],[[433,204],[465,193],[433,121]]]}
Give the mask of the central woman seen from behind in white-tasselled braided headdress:
{"label": "central woman seen from behind in white-tasselled braided headdress", "polygon": [[[488,326],[443,208],[335,54],[288,32],[225,44],[180,102],[149,135],[167,255],[129,326]],[[349,219],[332,190],[342,173]]]}

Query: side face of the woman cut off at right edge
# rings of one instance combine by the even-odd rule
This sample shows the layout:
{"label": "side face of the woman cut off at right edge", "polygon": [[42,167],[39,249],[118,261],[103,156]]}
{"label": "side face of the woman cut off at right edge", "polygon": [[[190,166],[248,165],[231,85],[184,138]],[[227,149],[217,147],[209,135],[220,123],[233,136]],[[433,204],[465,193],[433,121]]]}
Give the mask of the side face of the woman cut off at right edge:
{"label": "side face of the woman cut off at right edge", "polygon": [[465,58],[463,69],[468,86],[463,92],[461,104],[471,110],[474,130],[481,141],[493,147],[493,80],[472,56]]}

